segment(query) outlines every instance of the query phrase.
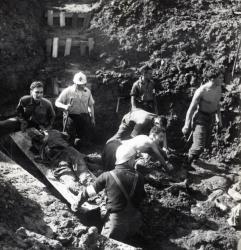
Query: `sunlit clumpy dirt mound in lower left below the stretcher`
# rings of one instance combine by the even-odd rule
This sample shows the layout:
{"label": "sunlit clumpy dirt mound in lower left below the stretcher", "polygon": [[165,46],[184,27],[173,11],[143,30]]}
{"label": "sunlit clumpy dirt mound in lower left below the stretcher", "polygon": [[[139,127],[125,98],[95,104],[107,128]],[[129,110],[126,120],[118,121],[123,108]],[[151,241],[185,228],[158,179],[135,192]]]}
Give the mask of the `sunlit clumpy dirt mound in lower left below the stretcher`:
{"label": "sunlit clumpy dirt mound in lower left below the stretcher", "polygon": [[90,216],[96,223],[95,213],[73,214],[19,165],[2,153],[0,158],[1,249],[104,249],[105,242],[115,249],[109,240],[99,238],[96,227],[83,224]]}

